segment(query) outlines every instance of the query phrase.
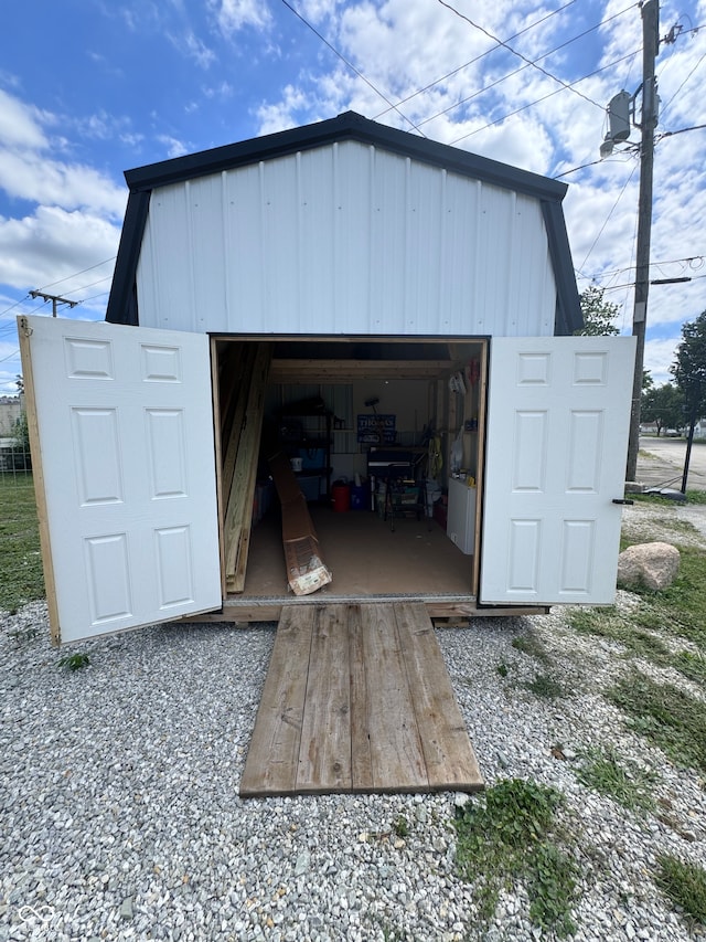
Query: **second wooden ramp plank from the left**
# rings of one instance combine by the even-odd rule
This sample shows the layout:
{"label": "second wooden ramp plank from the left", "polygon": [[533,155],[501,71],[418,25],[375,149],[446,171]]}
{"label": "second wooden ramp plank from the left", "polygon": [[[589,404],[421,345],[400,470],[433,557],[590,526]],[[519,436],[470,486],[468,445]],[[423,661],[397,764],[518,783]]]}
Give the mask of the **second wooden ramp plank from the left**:
{"label": "second wooden ramp plank from the left", "polygon": [[297,772],[302,794],[352,787],[346,615],[345,606],[327,605],[314,618]]}

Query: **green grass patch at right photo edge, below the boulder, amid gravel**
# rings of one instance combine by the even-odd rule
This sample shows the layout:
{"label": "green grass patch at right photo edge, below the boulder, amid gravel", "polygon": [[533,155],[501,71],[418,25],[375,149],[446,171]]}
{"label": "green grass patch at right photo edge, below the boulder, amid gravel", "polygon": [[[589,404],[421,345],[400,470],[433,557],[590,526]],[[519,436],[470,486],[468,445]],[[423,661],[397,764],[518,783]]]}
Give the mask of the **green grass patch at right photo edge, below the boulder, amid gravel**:
{"label": "green grass patch at right photo edge, below the boulder, amid gravel", "polygon": [[680,768],[706,772],[706,710],[672,684],[643,674],[623,678],[607,691],[629,726],[657,745]]}

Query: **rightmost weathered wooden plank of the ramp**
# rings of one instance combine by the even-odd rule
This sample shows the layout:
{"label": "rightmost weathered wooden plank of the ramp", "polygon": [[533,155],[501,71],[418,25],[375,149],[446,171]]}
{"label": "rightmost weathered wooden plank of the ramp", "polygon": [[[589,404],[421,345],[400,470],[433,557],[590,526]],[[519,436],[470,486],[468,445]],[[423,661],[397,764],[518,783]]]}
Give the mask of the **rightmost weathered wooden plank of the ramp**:
{"label": "rightmost weathered wooden plank of the ramp", "polygon": [[393,606],[429,786],[477,791],[483,780],[453,696],[434,627],[422,604]]}

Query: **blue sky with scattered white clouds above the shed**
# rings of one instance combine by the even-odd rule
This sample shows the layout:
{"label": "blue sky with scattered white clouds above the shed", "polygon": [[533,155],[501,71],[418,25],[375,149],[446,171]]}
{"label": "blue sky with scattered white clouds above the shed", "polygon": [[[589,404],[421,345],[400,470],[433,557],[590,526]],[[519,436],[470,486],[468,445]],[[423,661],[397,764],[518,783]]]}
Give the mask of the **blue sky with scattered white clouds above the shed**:
{"label": "blue sky with scattered white clouds above the shed", "polygon": [[[651,276],[692,281],[651,288],[657,382],[706,309],[706,0],[662,2],[660,35],[674,25],[657,59]],[[0,394],[21,371],[15,316],[51,315],[31,289],[104,318],[126,169],[350,108],[566,174],[579,290],[605,286],[631,330],[639,158],[598,148],[608,100],[640,86],[638,3],[30,0],[7,4],[0,42]]]}

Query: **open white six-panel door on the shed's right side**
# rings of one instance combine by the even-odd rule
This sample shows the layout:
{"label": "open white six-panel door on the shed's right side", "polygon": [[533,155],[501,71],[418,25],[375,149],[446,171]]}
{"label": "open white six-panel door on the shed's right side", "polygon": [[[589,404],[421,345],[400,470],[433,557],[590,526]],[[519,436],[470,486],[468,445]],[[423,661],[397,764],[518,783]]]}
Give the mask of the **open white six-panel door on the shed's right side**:
{"label": "open white six-panel door on the shed's right side", "polygon": [[607,603],[616,593],[632,337],[491,341],[483,603]]}

